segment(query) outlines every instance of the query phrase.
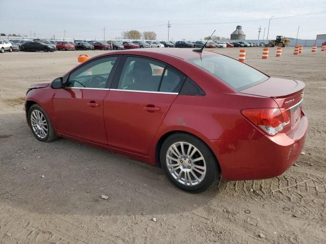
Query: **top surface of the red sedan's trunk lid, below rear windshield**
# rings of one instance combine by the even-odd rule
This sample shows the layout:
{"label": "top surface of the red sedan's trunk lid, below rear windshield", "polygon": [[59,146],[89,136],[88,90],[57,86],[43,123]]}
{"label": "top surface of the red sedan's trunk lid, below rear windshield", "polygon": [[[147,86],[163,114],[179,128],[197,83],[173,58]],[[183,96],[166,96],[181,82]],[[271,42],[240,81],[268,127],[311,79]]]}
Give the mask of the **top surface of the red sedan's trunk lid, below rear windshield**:
{"label": "top surface of the red sedan's trunk lid, below rear windshield", "polygon": [[269,98],[280,98],[295,94],[304,87],[305,83],[300,80],[286,80],[270,77],[258,85],[241,90],[239,93]]}

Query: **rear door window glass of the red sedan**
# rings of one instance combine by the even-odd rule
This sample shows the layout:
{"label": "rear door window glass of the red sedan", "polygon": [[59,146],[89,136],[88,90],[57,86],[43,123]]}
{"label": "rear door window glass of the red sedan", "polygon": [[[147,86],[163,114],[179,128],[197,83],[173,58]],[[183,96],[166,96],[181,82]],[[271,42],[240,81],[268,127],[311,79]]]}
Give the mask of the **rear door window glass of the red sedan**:
{"label": "rear door window glass of the red sedan", "polygon": [[118,89],[179,93],[184,78],[165,64],[147,58],[127,57]]}

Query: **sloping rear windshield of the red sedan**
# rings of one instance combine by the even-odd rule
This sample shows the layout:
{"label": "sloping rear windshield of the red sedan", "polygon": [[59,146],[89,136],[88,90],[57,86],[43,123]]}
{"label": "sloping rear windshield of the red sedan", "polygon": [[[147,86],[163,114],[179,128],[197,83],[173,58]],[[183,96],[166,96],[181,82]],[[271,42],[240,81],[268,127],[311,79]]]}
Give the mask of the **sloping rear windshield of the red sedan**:
{"label": "sloping rear windshield of the red sedan", "polygon": [[187,60],[240,91],[264,82],[269,77],[254,68],[223,55],[209,55]]}

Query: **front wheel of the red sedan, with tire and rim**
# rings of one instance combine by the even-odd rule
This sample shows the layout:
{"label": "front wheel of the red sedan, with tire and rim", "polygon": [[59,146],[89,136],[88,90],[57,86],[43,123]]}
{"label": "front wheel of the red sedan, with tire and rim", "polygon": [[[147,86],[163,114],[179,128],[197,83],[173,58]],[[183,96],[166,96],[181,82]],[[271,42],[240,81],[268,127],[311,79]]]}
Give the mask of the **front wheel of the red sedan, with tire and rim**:
{"label": "front wheel of the red sedan, with tire and rim", "polygon": [[39,141],[50,142],[59,138],[53,130],[49,117],[40,105],[34,104],[31,106],[28,118],[31,130]]}

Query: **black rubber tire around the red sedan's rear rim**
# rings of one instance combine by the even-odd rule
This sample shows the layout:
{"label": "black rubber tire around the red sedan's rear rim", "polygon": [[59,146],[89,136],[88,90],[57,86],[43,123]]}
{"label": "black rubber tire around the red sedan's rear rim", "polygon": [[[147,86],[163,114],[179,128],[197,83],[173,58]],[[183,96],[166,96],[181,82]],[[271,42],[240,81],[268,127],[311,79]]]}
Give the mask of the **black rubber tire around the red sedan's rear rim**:
{"label": "black rubber tire around the red sedan's rear rim", "polygon": [[[168,163],[167,163],[167,153],[169,148],[177,142],[185,142],[185,143],[189,143],[192,144],[193,146],[195,146],[201,153],[201,155],[204,158],[204,162],[206,164],[206,173],[203,176],[202,180],[194,186],[189,186],[190,184],[187,184],[187,186],[185,184],[180,183],[179,181],[177,181],[176,178],[174,178],[174,176],[172,176],[172,173],[170,173],[169,169],[168,169]],[[187,149],[184,149],[185,151]],[[195,154],[194,154],[195,156]],[[194,157],[192,156],[192,157]],[[182,156],[183,157],[183,156]],[[182,159],[182,158],[181,158]],[[188,159],[186,159],[185,161],[187,161]],[[185,162],[184,161],[184,162]],[[187,161],[190,162],[190,161]],[[189,192],[189,193],[199,193],[199,192],[203,192],[205,191],[209,186],[212,185],[212,183],[219,179],[221,176],[221,171],[220,171],[220,167],[219,167],[219,163],[216,160],[215,156],[213,155],[212,151],[210,150],[210,148],[203,142],[201,141],[199,138],[193,136],[193,135],[189,135],[189,134],[185,134],[185,133],[175,133],[170,135],[162,144],[161,149],[160,149],[160,163],[162,168],[164,169],[166,175],[168,176],[169,180],[177,187],[181,188],[182,190]],[[193,165],[193,163],[191,163]],[[180,164],[180,171],[179,173],[177,173],[177,171],[179,169],[177,169],[175,172],[177,174],[181,174],[181,165]],[[184,166],[182,166],[183,168],[185,168]],[[193,167],[193,166],[188,166]],[[185,169],[186,170],[186,169]],[[193,171],[195,172],[195,171]],[[185,175],[185,173],[183,173],[183,175]],[[190,175],[190,173],[189,173]],[[188,176],[189,177],[189,176]],[[194,176],[192,176],[194,178]],[[199,176],[198,176],[199,177]],[[183,181],[189,182],[189,180],[184,180],[185,177],[183,177]],[[182,179],[182,178],[180,178]],[[194,178],[195,179],[195,178]]]}

